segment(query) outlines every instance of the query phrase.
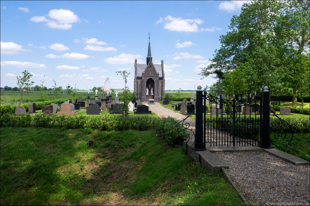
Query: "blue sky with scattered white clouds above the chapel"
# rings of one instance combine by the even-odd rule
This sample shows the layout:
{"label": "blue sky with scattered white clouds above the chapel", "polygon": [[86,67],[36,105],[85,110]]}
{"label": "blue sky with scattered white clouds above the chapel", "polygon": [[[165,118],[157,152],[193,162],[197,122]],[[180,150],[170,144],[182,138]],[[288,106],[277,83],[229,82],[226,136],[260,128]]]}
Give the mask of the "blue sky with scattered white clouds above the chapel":
{"label": "blue sky with scattered white clouds above the chapel", "polygon": [[148,33],[153,63],[164,61],[165,89],[194,89],[219,37],[245,1],[1,1],[0,85],[16,86],[28,70],[34,85],[77,89],[125,86],[116,71],[130,73],[135,59],[145,64]]}

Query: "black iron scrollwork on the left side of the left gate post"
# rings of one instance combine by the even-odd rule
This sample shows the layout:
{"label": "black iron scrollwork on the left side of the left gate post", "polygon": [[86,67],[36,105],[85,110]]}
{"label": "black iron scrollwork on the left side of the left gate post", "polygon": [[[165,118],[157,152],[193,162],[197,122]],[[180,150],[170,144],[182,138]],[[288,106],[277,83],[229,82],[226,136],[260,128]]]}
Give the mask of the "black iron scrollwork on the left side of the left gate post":
{"label": "black iron scrollwork on the left side of the left gate post", "polygon": [[[188,102],[190,102],[190,100],[191,100],[192,98],[188,98],[188,99],[186,99],[186,101],[185,101],[185,106],[186,107],[190,107],[192,104],[186,104],[186,102],[188,101]],[[186,117],[186,118],[184,118],[183,120],[181,120],[181,121],[179,121],[177,124],[175,124],[175,126],[172,128],[172,130],[171,130],[171,137],[173,136],[173,133],[174,133],[174,130],[175,130],[175,128],[178,128],[179,127],[179,124],[181,124],[181,126],[182,126],[182,129],[179,129],[179,131],[178,131],[178,134],[177,134],[177,139],[178,139],[178,142],[179,143],[182,143],[182,144],[184,144],[184,143],[188,143],[188,141],[191,139],[191,134],[193,135],[193,140],[195,140],[195,132],[193,131],[193,129],[190,129],[189,128],[189,124],[190,123],[188,123],[188,122],[185,122],[185,120],[188,118],[188,117],[191,117],[191,115],[193,114],[193,112],[195,111],[195,109],[196,109],[196,101],[193,99],[193,101],[195,102],[195,106],[194,106],[194,109],[193,109],[193,111]],[[170,138],[171,138],[170,137]],[[188,149],[188,148],[190,148],[190,147],[192,147],[193,145],[194,145],[194,143],[195,143],[195,141],[193,141],[193,144],[186,144],[187,145],[187,147],[186,148],[180,148],[180,147],[178,147],[177,146],[177,144],[175,144],[175,142],[174,141],[172,141],[172,143],[175,145],[175,147],[177,147],[177,148],[179,148],[179,149]]]}

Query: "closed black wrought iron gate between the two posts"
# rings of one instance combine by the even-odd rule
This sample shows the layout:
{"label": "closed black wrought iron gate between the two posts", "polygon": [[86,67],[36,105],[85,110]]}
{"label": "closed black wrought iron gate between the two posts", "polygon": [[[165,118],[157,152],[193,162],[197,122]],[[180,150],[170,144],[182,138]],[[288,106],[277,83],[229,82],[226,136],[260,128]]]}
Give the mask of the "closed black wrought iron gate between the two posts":
{"label": "closed black wrought iron gate between the two posts", "polygon": [[235,95],[224,98],[204,91],[203,99],[206,146],[258,145],[262,127],[262,91],[238,100]]}

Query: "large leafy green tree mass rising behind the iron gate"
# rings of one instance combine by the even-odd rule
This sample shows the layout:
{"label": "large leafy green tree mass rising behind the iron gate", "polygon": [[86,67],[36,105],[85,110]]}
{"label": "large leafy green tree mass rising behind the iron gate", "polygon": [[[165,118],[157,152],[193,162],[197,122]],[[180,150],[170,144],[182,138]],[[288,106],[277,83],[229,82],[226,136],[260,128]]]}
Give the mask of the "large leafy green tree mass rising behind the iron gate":
{"label": "large leafy green tree mass rising behind the iron gate", "polygon": [[241,14],[232,17],[229,32],[220,36],[222,45],[212,63],[200,74],[213,74],[218,81],[212,88],[228,94],[254,92],[260,86],[269,86],[273,95],[298,90],[296,81],[304,79],[299,74],[307,74],[307,5],[309,1],[245,3]]}

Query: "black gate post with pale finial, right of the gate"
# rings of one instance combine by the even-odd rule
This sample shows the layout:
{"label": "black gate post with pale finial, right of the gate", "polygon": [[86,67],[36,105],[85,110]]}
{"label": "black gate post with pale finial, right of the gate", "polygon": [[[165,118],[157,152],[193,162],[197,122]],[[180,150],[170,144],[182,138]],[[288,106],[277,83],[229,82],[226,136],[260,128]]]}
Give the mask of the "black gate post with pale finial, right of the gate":
{"label": "black gate post with pale finial, right of the gate", "polygon": [[270,110],[269,110],[269,90],[268,86],[263,90],[263,140],[262,148],[274,148],[270,144]]}

